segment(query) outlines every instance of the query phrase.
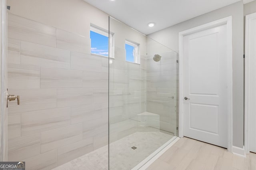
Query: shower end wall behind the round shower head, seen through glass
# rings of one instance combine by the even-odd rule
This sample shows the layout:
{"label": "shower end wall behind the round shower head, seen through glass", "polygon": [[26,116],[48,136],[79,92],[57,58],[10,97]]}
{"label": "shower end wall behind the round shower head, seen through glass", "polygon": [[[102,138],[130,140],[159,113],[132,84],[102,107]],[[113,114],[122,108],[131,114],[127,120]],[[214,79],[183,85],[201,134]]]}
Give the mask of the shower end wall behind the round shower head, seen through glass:
{"label": "shower end wall behind the round shower head, seen through glass", "polygon": [[[155,54],[161,60],[153,60]],[[160,115],[160,130],[177,135],[177,53],[147,39],[147,112]]]}

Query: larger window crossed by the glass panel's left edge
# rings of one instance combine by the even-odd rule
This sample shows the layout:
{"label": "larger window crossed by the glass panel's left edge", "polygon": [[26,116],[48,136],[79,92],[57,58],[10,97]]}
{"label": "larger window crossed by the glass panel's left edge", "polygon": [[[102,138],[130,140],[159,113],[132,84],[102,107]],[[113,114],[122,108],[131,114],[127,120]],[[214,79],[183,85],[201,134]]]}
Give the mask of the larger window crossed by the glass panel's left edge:
{"label": "larger window crossed by the glass panel's left edge", "polygon": [[[91,26],[90,28],[90,39],[91,39],[91,53],[95,55],[100,55],[100,56],[105,56],[108,57],[108,53],[110,54],[109,56],[114,58],[112,56],[112,42],[113,42],[113,35],[110,33],[108,34],[108,31],[104,29],[100,29],[96,26]],[[108,51],[108,38],[110,39],[110,51]]]}

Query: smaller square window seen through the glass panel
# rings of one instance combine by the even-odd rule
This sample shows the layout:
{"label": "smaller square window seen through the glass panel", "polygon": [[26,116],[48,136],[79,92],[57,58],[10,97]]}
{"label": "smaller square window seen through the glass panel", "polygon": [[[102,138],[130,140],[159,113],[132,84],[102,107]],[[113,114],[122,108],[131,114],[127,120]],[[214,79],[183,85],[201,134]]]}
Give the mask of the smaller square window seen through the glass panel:
{"label": "smaller square window seen through the glass panel", "polygon": [[125,50],[126,50],[126,61],[132,63],[139,63],[139,44],[134,42],[125,41]]}

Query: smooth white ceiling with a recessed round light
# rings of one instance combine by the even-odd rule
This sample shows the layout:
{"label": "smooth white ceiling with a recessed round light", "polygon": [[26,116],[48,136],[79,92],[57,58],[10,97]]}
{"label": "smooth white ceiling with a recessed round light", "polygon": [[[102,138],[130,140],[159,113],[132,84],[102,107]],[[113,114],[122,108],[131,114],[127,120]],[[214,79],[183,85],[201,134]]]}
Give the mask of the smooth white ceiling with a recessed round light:
{"label": "smooth white ceiling with a recessed round light", "polygon": [[[84,0],[148,35],[240,0]],[[156,25],[148,27],[149,22]]]}

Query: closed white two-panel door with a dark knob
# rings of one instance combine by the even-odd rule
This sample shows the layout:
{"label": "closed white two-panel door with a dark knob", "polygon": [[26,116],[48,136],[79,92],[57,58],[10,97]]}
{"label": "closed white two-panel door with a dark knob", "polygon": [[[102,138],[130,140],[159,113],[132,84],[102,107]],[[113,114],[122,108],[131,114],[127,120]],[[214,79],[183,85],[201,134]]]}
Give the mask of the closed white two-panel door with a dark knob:
{"label": "closed white two-panel door with a dark knob", "polygon": [[181,89],[184,136],[224,148],[228,147],[227,39],[227,24],[183,37]]}

